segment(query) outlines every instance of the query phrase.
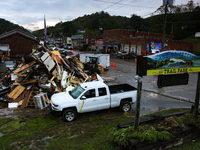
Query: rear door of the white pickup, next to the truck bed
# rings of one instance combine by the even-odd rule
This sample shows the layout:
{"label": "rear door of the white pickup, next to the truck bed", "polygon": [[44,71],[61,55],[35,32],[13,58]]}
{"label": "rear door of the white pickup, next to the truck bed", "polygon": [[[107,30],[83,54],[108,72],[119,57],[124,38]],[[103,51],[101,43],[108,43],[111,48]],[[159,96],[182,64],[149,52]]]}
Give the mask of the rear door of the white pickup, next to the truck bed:
{"label": "rear door of the white pickup, next to the truck bed", "polygon": [[105,87],[98,88],[97,105],[98,110],[108,109],[110,107],[110,96],[108,95]]}

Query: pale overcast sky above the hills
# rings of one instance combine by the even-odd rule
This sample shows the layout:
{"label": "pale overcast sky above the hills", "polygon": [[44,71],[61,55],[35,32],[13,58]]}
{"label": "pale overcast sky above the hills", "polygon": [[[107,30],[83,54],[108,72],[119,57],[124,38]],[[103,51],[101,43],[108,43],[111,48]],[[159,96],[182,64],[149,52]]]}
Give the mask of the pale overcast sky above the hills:
{"label": "pale overcast sky above the hills", "polygon": [[[163,0],[0,0],[0,18],[26,29],[44,28],[60,21],[71,21],[85,14],[108,12],[110,15],[143,18],[156,11]],[[2,2],[3,1],[3,2]],[[188,0],[175,0],[174,5],[187,4]],[[199,2],[200,0],[194,0]]]}

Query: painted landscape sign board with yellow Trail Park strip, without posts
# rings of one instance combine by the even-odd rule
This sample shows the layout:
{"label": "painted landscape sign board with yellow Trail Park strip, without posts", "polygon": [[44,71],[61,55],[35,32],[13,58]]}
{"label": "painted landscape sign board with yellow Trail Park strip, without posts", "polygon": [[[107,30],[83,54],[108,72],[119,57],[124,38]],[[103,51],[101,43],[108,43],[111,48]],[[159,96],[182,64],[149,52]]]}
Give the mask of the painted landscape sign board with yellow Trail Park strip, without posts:
{"label": "painted landscape sign board with yellow Trail Park strip, without posts", "polygon": [[164,51],[140,59],[140,76],[200,72],[200,56],[186,51]]}

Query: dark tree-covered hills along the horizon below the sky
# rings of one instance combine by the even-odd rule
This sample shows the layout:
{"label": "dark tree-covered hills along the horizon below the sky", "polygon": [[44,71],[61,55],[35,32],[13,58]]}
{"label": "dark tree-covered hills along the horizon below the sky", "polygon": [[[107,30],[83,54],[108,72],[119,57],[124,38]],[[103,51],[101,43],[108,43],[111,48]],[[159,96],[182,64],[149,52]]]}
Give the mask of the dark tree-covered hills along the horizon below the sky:
{"label": "dark tree-covered hills along the horizon below the sky", "polygon": [[[55,26],[47,28],[47,34],[52,36],[72,36],[77,34],[102,35],[104,30],[128,29],[152,33],[163,32],[163,6],[156,10],[157,15],[142,18],[132,14],[130,18],[124,16],[111,16],[107,12],[96,12],[84,15],[72,21],[58,22]],[[200,7],[189,1],[187,5],[173,6],[168,9],[166,34],[173,35],[175,40],[188,37],[194,39],[196,32],[200,32]],[[21,26],[0,19],[0,34],[13,29],[26,30]],[[27,30],[26,30],[27,31]],[[78,31],[85,31],[80,33]],[[33,31],[36,37],[43,37],[44,30]]]}

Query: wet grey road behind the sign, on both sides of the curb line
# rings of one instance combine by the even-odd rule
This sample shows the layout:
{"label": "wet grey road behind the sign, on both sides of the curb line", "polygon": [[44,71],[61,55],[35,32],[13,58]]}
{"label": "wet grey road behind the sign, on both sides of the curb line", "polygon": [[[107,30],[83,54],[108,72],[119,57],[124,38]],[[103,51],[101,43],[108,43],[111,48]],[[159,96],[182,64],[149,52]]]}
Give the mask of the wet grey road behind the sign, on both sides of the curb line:
{"label": "wet grey road behind the sign, on both sides of the curb line", "polygon": [[[112,63],[114,64],[113,67]],[[115,64],[116,67],[114,67]],[[120,58],[111,57],[110,69],[107,70],[101,76],[110,81],[107,83],[109,85],[128,83],[137,87],[137,83],[135,82],[136,64],[137,62],[135,62],[135,60],[133,59],[124,60]],[[191,78],[193,79],[192,82],[196,82],[195,77],[191,76]],[[170,108],[191,108],[192,105],[191,101],[188,102],[179,99],[181,95],[179,95],[179,93],[176,92],[176,90],[184,89],[182,88],[182,85],[158,89],[156,86],[157,85],[156,81],[157,81],[157,76],[143,77],[143,83],[142,83],[143,90],[142,90],[141,111],[140,111],[141,115]],[[195,86],[194,87],[191,87],[189,85],[184,85],[184,86],[185,88],[195,88]],[[170,92],[173,90],[175,91],[175,94],[177,93],[176,96],[174,96],[175,94],[173,92]],[[195,91],[193,93],[189,92],[187,93],[187,91],[183,91],[183,93],[187,96],[188,94],[191,94],[189,95],[190,97],[195,96]],[[135,109],[135,104],[133,109]]]}

